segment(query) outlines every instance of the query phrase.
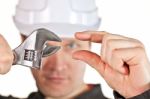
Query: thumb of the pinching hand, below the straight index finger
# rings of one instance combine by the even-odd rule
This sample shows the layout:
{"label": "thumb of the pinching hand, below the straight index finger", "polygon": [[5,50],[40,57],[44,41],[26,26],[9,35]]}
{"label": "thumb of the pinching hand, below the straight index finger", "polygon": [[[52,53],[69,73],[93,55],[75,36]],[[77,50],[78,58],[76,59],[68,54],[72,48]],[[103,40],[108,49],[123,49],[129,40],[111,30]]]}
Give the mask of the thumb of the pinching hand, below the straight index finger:
{"label": "thumb of the pinching hand, below the straight index finger", "polygon": [[84,61],[95,68],[103,76],[105,67],[99,55],[90,51],[80,50],[73,53],[73,58]]}

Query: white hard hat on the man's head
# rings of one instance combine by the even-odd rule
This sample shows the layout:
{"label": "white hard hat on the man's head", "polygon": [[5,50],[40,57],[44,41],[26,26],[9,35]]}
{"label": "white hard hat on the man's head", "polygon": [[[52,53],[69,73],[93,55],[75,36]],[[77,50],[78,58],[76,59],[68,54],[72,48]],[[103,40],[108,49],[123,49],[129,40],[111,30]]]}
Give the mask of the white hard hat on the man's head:
{"label": "white hard hat on the man's head", "polygon": [[19,0],[13,17],[24,35],[46,28],[58,36],[96,30],[100,24],[95,0]]}

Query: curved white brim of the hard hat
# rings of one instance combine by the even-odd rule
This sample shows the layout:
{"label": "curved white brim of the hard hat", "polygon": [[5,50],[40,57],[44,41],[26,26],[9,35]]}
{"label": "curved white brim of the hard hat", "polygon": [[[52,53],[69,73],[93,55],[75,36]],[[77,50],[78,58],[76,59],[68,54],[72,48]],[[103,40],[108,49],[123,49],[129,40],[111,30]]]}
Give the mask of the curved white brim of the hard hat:
{"label": "curved white brim of the hard hat", "polygon": [[75,32],[81,32],[81,31],[93,31],[97,30],[99,28],[101,20],[92,25],[92,26],[85,26],[80,24],[68,24],[68,23],[45,23],[41,24],[22,24],[14,19],[14,23],[16,27],[18,28],[19,32],[25,36],[30,35],[30,33],[38,28],[45,28],[48,29],[55,34],[57,34],[59,37],[69,37],[73,38]]}

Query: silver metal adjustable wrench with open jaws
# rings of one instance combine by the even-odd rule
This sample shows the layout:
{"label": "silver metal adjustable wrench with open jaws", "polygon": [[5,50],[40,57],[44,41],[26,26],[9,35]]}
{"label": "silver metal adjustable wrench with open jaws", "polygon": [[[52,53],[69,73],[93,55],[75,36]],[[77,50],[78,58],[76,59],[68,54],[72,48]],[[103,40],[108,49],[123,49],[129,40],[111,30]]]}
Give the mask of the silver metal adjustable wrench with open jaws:
{"label": "silver metal adjustable wrench with open jaws", "polygon": [[40,69],[42,57],[56,53],[60,46],[48,45],[47,41],[61,42],[61,39],[53,32],[44,28],[33,31],[25,41],[13,50],[13,65],[23,65]]}

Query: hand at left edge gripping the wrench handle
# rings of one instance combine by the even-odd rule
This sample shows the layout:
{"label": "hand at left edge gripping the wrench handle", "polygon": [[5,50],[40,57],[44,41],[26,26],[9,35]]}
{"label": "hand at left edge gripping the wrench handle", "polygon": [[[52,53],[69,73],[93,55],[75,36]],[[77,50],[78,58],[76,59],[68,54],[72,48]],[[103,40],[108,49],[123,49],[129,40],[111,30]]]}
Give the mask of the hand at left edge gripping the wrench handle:
{"label": "hand at left edge gripping the wrench handle", "polygon": [[13,63],[13,52],[2,35],[0,35],[0,74],[7,73]]}

